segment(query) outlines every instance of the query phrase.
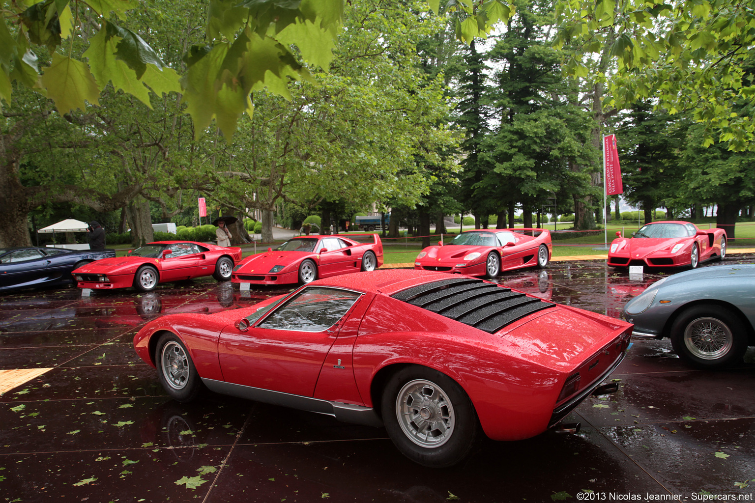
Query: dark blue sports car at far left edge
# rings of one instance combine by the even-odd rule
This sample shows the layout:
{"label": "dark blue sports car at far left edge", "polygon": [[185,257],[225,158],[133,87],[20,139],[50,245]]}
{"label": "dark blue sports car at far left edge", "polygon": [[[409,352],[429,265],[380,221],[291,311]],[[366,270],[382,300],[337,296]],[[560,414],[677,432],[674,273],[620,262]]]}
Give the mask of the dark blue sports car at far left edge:
{"label": "dark blue sports car at far left edge", "polygon": [[72,282],[71,271],[88,262],[116,256],[115,250],[0,248],[0,292]]}

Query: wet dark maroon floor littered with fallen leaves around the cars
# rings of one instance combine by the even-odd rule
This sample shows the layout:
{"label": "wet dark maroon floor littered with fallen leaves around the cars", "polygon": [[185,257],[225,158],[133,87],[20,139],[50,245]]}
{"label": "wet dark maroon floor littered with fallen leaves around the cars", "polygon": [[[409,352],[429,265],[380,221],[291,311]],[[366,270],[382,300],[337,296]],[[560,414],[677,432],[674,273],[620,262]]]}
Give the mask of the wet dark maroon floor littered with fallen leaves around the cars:
{"label": "wet dark maroon floor littered with fallen leaves around the cars", "polygon": [[[738,255],[724,263],[753,260]],[[628,299],[661,277],[630,277],[605,261],[581,261],[513,271],[499,281],[618,316]],[[437,470],[404,459],[382,428],[213,394],[174,402],[131,345],[156,316],[242,308],[291,290],[239,292],[230,283],[200,280],[148,294],[82,296],[69,288],[3,296],[0,500],[753,497],[753,348],[750,363],[708,372],[686,367],[667,340],[636,341],[612,375],[621,379],[618,393],[588,398],[568,419],[581,422],[578,434],[482,442],[464,464]]]}

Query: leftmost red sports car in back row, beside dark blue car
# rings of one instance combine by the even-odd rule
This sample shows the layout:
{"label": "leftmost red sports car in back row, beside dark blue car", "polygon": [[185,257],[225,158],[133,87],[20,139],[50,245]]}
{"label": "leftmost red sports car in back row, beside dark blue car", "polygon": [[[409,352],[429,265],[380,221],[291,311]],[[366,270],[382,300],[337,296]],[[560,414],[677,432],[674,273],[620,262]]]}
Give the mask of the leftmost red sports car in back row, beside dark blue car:
{"label": "leftmost red sports car in back row, beside dark blue car", "polygon": [[72,271],[79,288],[111,290],[134,287],[143,292],[159,283],[212,275],[228,281],[241,248],[193,241],[155,241],[127,256],[97,260]]}

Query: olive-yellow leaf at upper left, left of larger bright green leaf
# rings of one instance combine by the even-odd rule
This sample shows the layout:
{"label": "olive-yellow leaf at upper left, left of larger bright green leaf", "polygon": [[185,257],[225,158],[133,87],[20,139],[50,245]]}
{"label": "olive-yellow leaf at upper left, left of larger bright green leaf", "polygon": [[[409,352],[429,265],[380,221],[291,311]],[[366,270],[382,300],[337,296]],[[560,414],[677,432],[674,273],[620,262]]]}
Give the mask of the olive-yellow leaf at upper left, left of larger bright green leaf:
{"label": "olive-yellow leaf at upper left, left of larger bright green leaf", "polygon": [[51,66],[44,70],[42,85],[61,114],[73,109],[85,110],[85,100],[93,105],[100,104],[97,82],[94,81],[88,66],[81,61],[55,53],[52,55]]}

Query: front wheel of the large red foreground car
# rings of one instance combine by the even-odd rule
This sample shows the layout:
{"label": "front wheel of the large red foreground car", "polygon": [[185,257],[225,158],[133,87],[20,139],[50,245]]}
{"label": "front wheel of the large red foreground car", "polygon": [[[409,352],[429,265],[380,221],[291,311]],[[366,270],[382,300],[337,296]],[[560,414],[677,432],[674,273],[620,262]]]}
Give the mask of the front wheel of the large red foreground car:
{"label": "front wheel of the large red foreground car", "polygon": [[175,334],[165,333],[160,337],[155,364],[160,384],[172,399],[190,402],[202,389],[202,379],[199,379],[189,351]]}

